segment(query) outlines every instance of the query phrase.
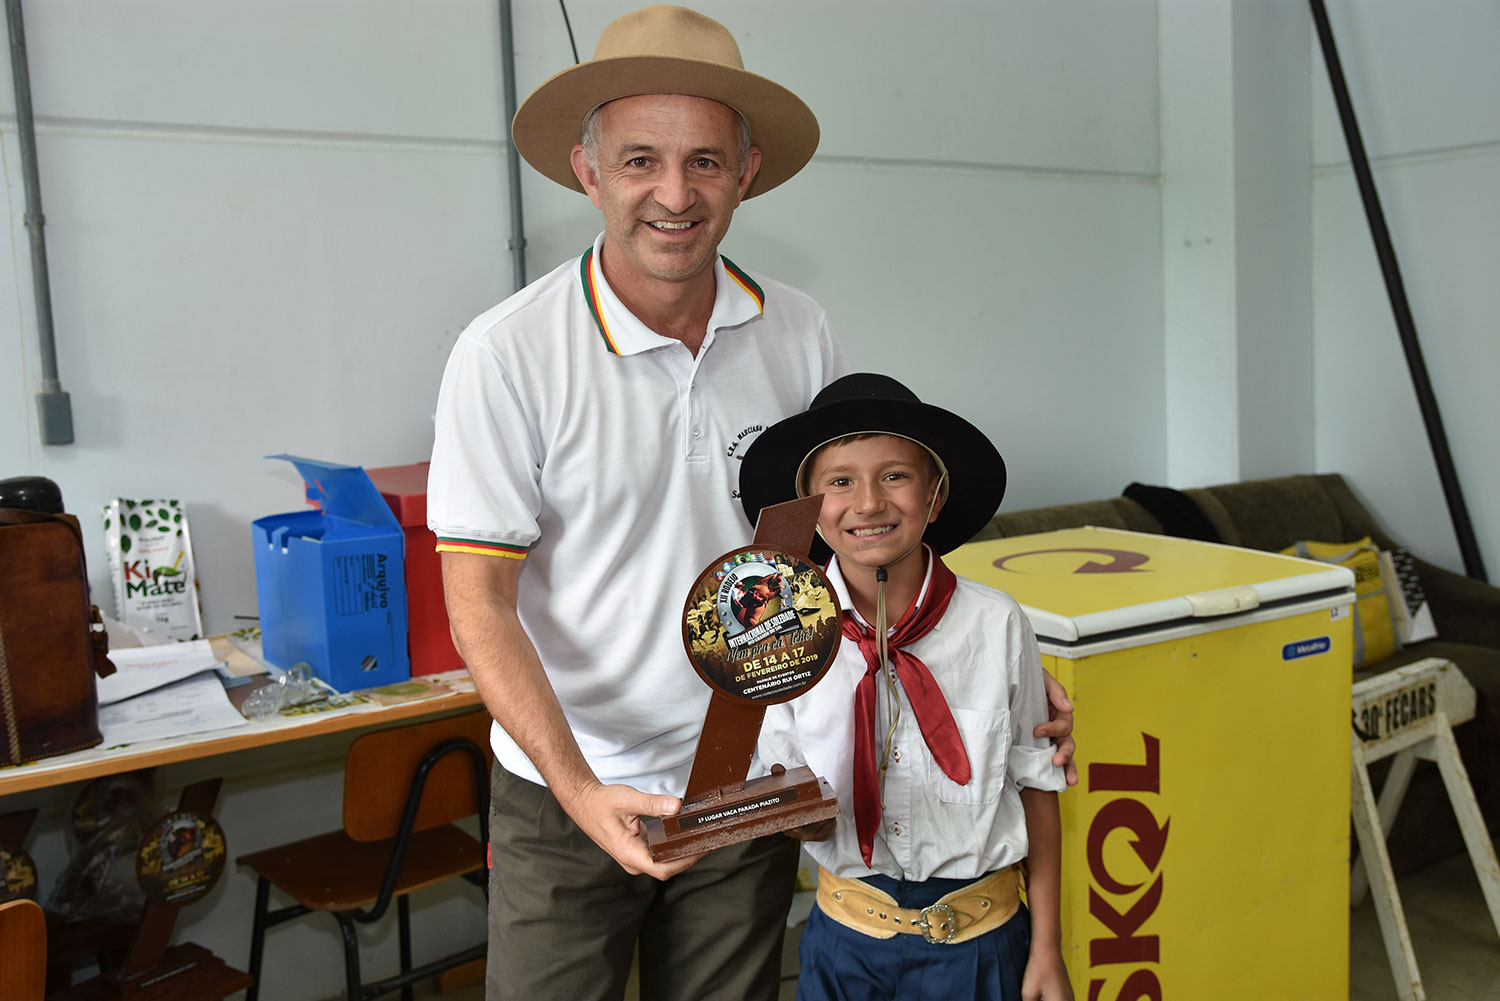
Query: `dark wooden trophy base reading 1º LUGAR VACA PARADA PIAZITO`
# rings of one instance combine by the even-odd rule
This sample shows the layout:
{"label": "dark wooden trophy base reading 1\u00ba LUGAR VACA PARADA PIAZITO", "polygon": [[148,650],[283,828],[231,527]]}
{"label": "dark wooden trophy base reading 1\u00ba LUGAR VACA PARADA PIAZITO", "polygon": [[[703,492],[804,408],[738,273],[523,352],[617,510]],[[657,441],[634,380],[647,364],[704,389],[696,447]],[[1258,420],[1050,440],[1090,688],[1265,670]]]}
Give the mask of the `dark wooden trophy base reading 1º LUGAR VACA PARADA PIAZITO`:
{"label": "dark wooden trophy base reading 1\u00ba LUGAR VACA PARADA PIAZITO", "polygon": [[675,816],[642,818],[652,861],[672,861],[762,834],[838,816],[838,797],[807,765],[772,765],[771,774],[730,782],[682,800]]}

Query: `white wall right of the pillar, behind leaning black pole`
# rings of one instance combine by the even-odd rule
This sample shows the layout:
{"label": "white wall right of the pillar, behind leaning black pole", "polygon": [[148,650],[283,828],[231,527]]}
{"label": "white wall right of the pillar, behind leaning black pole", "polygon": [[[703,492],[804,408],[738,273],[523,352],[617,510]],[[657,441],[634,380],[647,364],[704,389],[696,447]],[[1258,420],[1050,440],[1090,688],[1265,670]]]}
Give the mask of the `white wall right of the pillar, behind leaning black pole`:
{"label": "white wall right of the pillar, behind leaning black pole", "polygon": [[[1376,186],[1491,581],[1500,579],[1500,8],[1330,0]],[[1462,570],[1322,54],[1312,65],[1317,465]]]}

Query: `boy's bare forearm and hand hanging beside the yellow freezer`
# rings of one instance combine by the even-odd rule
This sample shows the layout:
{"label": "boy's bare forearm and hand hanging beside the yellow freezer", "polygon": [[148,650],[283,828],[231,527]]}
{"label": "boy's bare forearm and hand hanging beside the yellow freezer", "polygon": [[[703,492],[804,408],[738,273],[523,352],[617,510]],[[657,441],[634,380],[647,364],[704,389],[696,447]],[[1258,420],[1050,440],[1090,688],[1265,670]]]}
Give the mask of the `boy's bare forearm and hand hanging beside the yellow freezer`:
{"label": "boy's bare forearm and hand hanging beside the yellow freezer", "polygon": [[1022,1001],[1072,1001],[1062,960],[1062,821],[1058,794],[1022,786],[1026,810],[1026,903],[1032,945],[1022,977]]}

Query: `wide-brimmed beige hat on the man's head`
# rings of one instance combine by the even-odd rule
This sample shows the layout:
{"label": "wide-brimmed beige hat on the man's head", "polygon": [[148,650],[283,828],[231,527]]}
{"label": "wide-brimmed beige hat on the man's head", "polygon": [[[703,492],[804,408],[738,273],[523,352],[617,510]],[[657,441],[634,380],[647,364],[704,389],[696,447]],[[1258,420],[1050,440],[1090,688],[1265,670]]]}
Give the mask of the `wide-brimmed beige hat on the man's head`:
{"label": "wide-brimmed beige hat on the man's head", "polygon": [[594,57],[552,77],[516,111],[516,150],[556,183],[584,191],[572,153],[584,117],[602,104],[638,95],[690,95],[726,104],[750,123],[760,173],[746,198],[792,177],[818,149],[818,117],[786,87],[747,72],[740,45],[718,21],[656,5],[616,18]]}

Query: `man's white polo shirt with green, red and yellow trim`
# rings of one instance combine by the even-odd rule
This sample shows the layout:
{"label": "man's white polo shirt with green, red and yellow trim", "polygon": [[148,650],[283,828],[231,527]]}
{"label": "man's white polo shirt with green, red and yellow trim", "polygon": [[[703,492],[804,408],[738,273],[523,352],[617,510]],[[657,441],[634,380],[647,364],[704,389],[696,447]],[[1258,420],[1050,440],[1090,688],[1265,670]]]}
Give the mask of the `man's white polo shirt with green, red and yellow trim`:
{"label": "man's white polo shirt with green, red and yellow trim", "polygon": [[[723,258],[694,357],[620,303],[602,245],[459,335],[428,525],[440,551],[525,560],[520,621],[594,773],[681,795],[710,696],[682,648],[688,588],[750,542],[746,449],[844,362],[818,303]],[[542,782],[500,726],[490,741]]]}

